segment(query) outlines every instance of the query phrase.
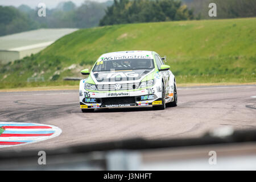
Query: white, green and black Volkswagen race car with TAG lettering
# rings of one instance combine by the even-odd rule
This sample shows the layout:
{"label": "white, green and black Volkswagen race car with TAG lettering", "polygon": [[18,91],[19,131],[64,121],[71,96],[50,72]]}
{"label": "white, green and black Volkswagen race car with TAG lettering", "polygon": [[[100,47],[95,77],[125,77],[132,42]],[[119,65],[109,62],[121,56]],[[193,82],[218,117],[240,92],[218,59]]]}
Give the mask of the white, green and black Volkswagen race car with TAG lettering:
{"label": "white, green and black Volkswagen race car with TAG lettering", "polygon": [[101,55],[80,81],[82,112],[100,108],[177,105],[175,76],[154,51],[122,51]]}

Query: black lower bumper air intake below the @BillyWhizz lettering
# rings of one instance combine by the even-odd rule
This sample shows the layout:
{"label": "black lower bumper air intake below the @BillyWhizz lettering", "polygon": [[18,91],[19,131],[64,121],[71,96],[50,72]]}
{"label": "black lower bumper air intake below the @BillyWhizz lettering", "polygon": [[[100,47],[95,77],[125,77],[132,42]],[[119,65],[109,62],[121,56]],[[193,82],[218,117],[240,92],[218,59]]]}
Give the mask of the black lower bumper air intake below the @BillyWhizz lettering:
{"label": "black lower bumper air intake below the @BillyWhizz lettering", "polygon": [[101,99],[102,105],[134,104],[135,97],[106,97]]}

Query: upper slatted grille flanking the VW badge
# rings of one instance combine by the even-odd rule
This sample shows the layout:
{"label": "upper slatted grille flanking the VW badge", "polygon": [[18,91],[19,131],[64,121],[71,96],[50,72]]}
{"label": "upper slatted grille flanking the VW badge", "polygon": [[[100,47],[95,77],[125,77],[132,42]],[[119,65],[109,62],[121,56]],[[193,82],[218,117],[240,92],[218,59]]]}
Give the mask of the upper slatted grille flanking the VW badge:
{"label": "upper slatted grille flanking the VW badge", "polygon": [[[133,90],[139,87],[139,83],[127,83],[120,84],[121,89],[119,90]],[[101,84],[97,85],[98,91],[115,91],[115,84]]]}

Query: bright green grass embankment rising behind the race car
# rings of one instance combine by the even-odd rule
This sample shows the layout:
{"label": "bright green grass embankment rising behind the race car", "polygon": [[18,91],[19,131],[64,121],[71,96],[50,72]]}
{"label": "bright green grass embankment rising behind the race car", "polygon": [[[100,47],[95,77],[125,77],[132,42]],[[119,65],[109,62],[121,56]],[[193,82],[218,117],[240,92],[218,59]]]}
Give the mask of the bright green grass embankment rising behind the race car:
{"label": "bright green grass embankment rising behind the race car", "polygon": [[[256,82],[256,18],[121,24],[79,30],[43,51],[1,65],[0,89],[74,85],[102,53],[152,50],[167,56],[179,84]],[[26,83],[28,77],[46,82]],[[52,82],[53,81],[53,82]],[[13,82],[13,83],[10,83]]]}

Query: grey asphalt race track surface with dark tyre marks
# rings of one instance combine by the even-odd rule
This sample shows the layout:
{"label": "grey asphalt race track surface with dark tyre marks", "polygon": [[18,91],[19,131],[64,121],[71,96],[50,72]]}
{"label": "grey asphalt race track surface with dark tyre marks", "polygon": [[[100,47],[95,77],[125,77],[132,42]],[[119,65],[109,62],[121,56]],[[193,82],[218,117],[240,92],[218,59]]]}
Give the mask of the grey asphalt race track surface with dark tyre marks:
{"label": "grey asphalt race track surface with dark tyre marks", "polygon": [[177,88],[178,106],[97,109],[82,113],[78,90],[2,92],[0,122],[54,125],[59,137],[6,150],[47,150],[134,137],[198,137],[210,129],[256,126],[256,85]]}

